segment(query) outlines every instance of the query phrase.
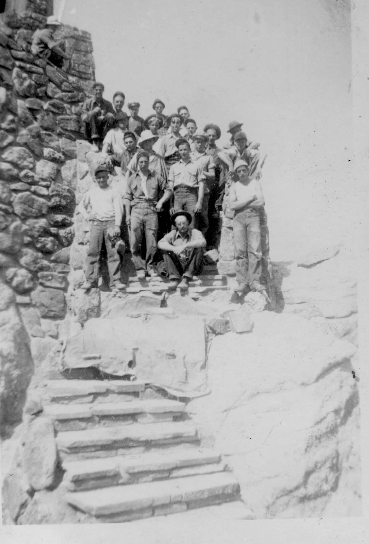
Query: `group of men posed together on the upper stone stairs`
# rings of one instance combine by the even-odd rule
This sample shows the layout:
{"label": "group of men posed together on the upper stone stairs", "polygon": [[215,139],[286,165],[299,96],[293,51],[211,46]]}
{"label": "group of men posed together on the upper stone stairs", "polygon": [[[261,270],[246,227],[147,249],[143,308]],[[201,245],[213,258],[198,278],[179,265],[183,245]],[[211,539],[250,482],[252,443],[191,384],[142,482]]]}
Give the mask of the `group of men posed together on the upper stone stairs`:
{"label": "group of men posed together on the upper stone stairs", "polygon": [[167,117],[164,102],[156,99],[154,112],[143,119],[138,102],[128,103],[128,115],[122,111],[123,92],[114,93],[113,103],[103,98],[103,92],[103,84],[95,82],[81,115],[85,138],[99,152],[96,185],[79,203],[79,211],[91,221],[82,287],[97,285],[104,239],[110,288],[125,289],[116,249],[123,247],[124,225],[138,278],[157,276],[156,264],[163,260],[168,288],[187,290],[192,276],[201,271],[205,248],[218,248],[227,207],[234,212],[236,290],[265,291],[262,248],[268,248],[259,181],[262,162],[259,144],[247,139],[243,123],[229,123],[230,145],[222,149],[216,144],[219,126],[207,123],[201,131],[186,106]]}

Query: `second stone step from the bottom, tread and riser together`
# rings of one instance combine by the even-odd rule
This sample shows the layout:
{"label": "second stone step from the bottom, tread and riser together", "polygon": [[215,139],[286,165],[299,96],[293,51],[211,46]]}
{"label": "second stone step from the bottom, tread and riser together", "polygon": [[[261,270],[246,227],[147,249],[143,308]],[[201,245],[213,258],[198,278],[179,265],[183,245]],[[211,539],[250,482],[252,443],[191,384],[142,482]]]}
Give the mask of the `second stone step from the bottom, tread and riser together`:
{"label": "second stone step from the bottom, tread and riser together", "polygon": [[143,483],[167,478],[222,472],[226,465],[210,449],[165,450],[142,455],[64,462],[67,491]]}

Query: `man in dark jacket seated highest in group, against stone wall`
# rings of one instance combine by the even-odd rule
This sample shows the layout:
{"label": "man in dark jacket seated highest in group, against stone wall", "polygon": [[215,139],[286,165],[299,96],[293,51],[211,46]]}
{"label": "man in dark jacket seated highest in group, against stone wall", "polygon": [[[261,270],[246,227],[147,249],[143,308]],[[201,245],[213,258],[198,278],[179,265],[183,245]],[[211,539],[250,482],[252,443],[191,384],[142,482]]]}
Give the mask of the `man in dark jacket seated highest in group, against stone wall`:
{"label": "man in dark jacket seated highest in group, against stone wall", "polygon": [[84,123],[84,136],[93,144],[91,151],[99,152],[99,145],[113,128],[115,117],[112,103],[102,97],[104,85],[96,81],[93,92],[94,96],[83,104],[81,120]]}

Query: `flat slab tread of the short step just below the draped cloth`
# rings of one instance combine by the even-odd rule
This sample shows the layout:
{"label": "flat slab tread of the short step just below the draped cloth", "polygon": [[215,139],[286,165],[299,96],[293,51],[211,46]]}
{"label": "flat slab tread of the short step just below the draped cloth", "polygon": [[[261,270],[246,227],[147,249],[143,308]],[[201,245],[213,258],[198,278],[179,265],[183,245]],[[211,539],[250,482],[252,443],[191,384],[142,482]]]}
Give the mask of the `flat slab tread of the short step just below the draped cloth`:
{"label": "flat slab tread of the short step just below the draped cloth", "polygon": [[141,380],[49,380],[46,394],[50,398],[77,397],[102,393],[139,393],[145,390]]}

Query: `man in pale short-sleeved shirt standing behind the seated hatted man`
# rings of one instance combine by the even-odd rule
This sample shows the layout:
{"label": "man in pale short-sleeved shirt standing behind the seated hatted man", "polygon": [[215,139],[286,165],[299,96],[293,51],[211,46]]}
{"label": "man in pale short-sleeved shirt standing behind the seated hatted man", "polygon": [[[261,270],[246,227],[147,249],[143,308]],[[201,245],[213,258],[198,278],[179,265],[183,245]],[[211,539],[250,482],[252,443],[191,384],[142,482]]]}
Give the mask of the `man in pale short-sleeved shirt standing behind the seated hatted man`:
{"label": "man in pale short-sleeved shirt standing behind the seated hatted man", "polygon": [[190,146],[185,138],[179,138],[176,147],[180,160],[170,167],[168,176],[169,186],[174,191],[173,212],[180,209],[188,212],[193,228],[199,219],[196,214],[201,212],[206,176],[202,165],[190,157]]}

